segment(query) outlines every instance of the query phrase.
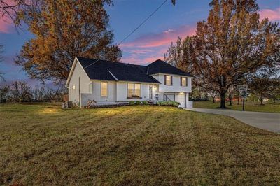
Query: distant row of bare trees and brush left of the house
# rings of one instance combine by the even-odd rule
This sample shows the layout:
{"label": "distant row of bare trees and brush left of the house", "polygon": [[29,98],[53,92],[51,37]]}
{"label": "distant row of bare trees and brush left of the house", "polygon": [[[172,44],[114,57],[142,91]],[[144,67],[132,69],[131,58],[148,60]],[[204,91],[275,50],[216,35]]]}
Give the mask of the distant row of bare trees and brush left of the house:
{"label": "distant row of bare trees and brush left of the house", "polygon": [[52,89],[46,85],[31,87],[25,81],[15,81],[10,85],[0,85],[0,103],[63,101],[66,87]]}

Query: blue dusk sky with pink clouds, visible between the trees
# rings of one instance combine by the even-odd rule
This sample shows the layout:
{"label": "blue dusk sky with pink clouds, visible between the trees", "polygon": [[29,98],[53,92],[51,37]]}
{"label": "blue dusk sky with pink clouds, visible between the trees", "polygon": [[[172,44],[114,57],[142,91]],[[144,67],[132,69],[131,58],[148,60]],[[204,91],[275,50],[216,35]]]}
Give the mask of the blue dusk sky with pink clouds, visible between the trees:
{"label": "blue dusk sky with pink clouds, visible between the trees", "polygon": [[[107,7],[111,29],[115,34],[115,43],[139,25],[164,0],[114,0],[114,6]],[[280,0],[258,0],[260,17],[269,17],[271,21],[280,21]],[[209,13],[209,0],[178,0],[173,6],[171,0],[165,3],[148,22],[127,39],[120,48],[123,50],[122,62],[130,64],[148,64],[155,59],[163,59],[164,53],[178,36],[195,34],[196,23],[206,20]],[[30,80],[25,72],[13,64],[13,58],[20,52],[22,44],[32,35],[28,31],[15,31],[12,24],[0,20],[0,44],[4,46],[4,62],[0,71],[5,73],[8,82],[12,80]]]}

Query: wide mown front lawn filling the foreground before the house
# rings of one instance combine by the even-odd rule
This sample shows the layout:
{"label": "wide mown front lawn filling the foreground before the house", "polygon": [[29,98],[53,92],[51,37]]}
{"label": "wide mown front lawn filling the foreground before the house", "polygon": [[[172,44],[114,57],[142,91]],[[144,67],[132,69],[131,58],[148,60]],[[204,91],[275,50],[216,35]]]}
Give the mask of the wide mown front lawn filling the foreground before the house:
{"label": "wide mown front lawn filling the foreground before the house", "polygon": [[280,135],[178,108],[0,105],[0,185],[279,185]]}

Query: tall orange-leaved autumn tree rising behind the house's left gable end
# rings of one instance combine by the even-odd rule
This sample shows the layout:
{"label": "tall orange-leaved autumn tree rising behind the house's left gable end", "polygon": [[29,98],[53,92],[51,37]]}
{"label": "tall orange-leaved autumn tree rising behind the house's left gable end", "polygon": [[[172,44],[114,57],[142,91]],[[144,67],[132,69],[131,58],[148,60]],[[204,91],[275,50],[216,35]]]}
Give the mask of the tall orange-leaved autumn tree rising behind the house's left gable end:
{"label": "tall orange-leaved autumn tree rising behind the house's left gable end", "polygon": [[34,38],[23,45],[16,63],[31,78],[66,80],[76,56],[118,61],[104,4],[111,0],[37,0],[23,20]]}

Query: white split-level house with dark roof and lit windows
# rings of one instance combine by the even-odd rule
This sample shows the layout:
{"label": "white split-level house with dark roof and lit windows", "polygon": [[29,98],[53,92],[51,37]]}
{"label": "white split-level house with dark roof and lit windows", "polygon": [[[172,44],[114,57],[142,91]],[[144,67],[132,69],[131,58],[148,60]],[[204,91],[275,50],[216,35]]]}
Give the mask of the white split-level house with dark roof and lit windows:
{"label": "white split-level house with dark roof and lit windows", "polygon": [[157,60],[148,66],[76,57],[66,87],[69,101],[86,106],[128,103],[129,101],[177,101],[192,108],[189,101],[192,76]]}

